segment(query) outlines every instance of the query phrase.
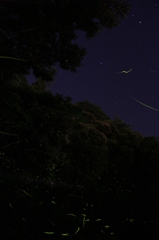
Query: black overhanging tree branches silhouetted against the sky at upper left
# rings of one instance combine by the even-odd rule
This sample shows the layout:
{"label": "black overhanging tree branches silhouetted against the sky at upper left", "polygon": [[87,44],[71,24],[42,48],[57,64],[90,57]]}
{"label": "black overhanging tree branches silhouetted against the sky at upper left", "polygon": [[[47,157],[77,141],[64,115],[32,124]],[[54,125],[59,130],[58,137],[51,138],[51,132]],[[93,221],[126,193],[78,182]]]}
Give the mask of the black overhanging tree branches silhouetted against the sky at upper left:
{"label": "black overhanging tree branches silhouetted against the sky at upper left", "polygon": [[86,54],[72,41],[76,31],[87,38],[103,27],[112,28],[126,17],[125,0],[3,0],[0,3],[1,74],[8,71],[53,80],[55,66],[76,71]]}

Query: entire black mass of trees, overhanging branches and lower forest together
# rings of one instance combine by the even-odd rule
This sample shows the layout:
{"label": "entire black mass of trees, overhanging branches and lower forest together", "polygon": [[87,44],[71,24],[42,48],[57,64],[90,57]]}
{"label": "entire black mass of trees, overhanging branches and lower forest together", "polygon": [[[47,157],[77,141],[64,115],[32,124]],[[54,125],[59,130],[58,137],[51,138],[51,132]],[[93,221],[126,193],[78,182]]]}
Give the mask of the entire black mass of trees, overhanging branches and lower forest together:
{"label": "entire black mass of trees, overhanging branches and lower forest together", "polygon": [[1,1],[3,240],[159,238],[159,142],[45,86],[57,64],[81,66],[77,30],[91,38],[129,9],[123,0]]}

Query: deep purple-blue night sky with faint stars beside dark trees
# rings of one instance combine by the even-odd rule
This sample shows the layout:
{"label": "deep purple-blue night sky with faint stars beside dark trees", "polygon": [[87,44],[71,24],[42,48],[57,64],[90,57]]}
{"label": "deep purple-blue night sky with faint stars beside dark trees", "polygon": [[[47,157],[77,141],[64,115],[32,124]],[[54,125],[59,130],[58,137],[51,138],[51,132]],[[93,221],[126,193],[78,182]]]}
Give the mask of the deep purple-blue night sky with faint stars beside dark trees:
{"label": "deep purple-blue night sky with faint stars beside dark trees", "polygon": [[[159,110],[159,1],[130,3],[120,26],[103,29],[90,40],[78,32],[76,42],[87,49],[83,66],[77,73],[57,68],[50,90],[70,96],[73,103],[88,100],[143,136],[158,137],[159,111],[135,99]],[[32,75],[27,79],[34,81]]]}

